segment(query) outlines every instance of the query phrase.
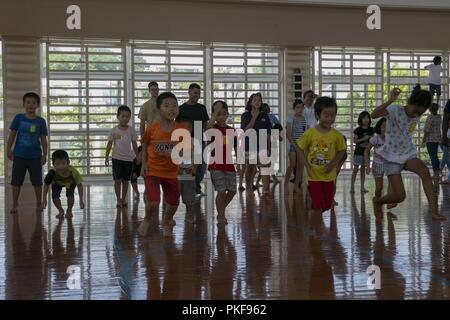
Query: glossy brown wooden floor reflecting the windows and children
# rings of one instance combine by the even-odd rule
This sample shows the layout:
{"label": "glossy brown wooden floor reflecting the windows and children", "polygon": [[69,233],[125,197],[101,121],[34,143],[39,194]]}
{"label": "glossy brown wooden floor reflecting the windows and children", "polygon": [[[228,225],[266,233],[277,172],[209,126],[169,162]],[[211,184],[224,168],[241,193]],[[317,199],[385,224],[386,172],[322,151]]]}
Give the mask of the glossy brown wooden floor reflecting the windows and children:
{"label": "glossy brown wooden floor reflecting the windows and children", "polygon": [[[2,186],[0,298],[449,299],[449,222],[429,218],[419,181],[405,178],[407,200],[393,210],[398,220],[377,223],[373,181],[364,198],[350,194],[349,180],[340,178],[339,206],[322,220],[279,184],[266,201],[236,196],[229,224],[219,228],[206,181],[199,223],[185,224],[181,206],[171,240],[157,220],[148,237],[138,236],[142,200],[117,211],[112,185],[86,186],[87,208],[61,223],[54,207],[36,215],[31,190],[10,215],[10,190]],[[450,219],[450,187],[438,192]],[[380,290],[367,288],[371,264],[381,268]],[[68,289],[69,265],[80,267],[81,289]]]}

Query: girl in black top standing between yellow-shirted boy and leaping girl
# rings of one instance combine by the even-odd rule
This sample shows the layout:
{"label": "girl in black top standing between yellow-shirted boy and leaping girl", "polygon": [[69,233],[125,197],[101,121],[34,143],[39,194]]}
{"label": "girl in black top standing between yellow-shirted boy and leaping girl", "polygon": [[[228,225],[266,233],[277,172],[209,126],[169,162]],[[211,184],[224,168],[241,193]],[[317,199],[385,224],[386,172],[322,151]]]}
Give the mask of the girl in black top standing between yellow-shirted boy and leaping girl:
{"label": "girl in black top standing between yellow-shirted boy and leaping girl", "polygon": [[366,172],[364,169],[364,150],[367,147],[369,139],[373,136],[373,128],[370,126],[372,120],[367,111],[363,111],[358,116],[358,128],[353,131],[353,141],[355,143],[355,153],[353,157],[353,173],[351,192],[355,191],[355,181],[358,171],[361,167],[361,192],[368,192],[365,188]]}

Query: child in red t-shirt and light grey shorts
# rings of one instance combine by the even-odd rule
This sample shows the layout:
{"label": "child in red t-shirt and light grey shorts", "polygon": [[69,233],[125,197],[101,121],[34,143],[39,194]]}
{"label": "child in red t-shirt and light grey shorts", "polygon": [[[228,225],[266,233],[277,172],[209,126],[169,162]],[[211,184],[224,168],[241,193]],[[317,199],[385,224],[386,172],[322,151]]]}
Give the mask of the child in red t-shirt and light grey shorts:
{"label": "child in red t-shirt and light grey shorts", "polygon": [[[217,207],[217,223],[227,224],[228,221],[225,217],[225,209],[233,200],[236,194],[236,170],[234,164],[227,162],[227,158],[231,161],[231,148],[227,148],[227,145],[233,143],[229,141],[227,131],[233,131],[234,129],[227,125],[227,119],[229,117],[228,106],[224,101],[216,101],[212,106],[211,120],[208,122],[208,129],[214,128],[220,130],[223,139],[223,159],[222,163],[212,162],[208,166],[208,170],[211,173],[211,180],[214,185],[214,189],[217,191],[216,207]],[[230,134],[229,134],[230,135]],[[234,140],[234,148],[236,150],[236,138]],[[228,149],[228,150],[227,150]],[[227,157],[228,154],[228,157]],[[215,156],[212,155],[212,156]],[[219,161],[218,161],[219,162]]]}

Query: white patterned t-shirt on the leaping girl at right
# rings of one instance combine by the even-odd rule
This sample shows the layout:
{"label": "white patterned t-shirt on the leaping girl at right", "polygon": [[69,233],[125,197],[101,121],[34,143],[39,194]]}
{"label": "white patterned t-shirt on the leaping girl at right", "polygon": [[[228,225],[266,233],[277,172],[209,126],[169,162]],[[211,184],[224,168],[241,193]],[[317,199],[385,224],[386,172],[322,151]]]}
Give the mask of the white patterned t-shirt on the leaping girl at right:
{"label": "white patterned t-shirt on the leaping girl at right", "polygon": [[387,107],[385,144],[379,154],[389,162],[404,164],[417,157],[411,133],[416,129],[419,118],[410,118],[405,108],[397,105]]}

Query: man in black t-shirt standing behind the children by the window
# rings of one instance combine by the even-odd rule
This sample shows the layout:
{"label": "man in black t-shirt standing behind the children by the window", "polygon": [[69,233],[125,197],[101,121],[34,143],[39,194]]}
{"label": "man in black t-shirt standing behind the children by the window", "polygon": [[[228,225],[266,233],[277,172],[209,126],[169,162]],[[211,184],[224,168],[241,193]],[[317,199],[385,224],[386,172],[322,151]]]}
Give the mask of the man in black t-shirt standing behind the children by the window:
{"label": "man in black t-shirt standing behind the children by the window", "polygon": [[[202,150],[205,148],[205,142],[203,141],[203,131],[206,128],[206,124],[209,121],[209,115],[206,111],[206,107],[203,104],[198,103],[201,95],[201,88],[197,83],[191,83],[189,85],[189,100],[180,106],[180,113],[178,114],[178,119],[189,119],[192,121],[192,135],[193,137],[201,137]],[[196,132],[195,122],[200,121],[202,126],[202,132]],[[202,153],[202,164],[197,167],[197,172],[195,175],[195,191],[197,196],[205,196],[202,192],[201,182],[205,176],[206,163],[203,160]]]}

